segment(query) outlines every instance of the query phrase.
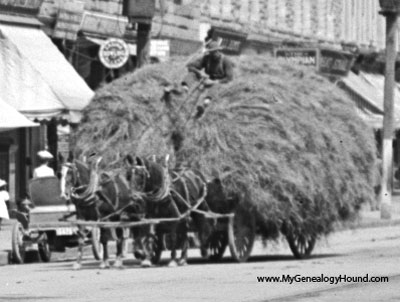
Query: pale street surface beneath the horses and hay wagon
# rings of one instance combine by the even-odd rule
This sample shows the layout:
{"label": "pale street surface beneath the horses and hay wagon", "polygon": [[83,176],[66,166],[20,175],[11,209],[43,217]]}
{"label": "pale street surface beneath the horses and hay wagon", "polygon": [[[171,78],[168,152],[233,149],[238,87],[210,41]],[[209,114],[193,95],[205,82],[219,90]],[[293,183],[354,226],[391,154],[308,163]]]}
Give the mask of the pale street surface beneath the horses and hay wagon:
{"label": "pale street surface beneath the horses and hay wagon", "polygon": [[[98,269],[90,250],[81,271],[72,270],[75,250],[51,263],[0,267],[0,301],[400,301],[400,226],[335,233],[318,242],[313,257],[295,260],[284,241],[257,242],[248,263],[227,251],[210,263],[192,250],[186,267],[142,269],[131,256],[123,270]],[[257,277],[388,276],[388,283],[257,282]]]}

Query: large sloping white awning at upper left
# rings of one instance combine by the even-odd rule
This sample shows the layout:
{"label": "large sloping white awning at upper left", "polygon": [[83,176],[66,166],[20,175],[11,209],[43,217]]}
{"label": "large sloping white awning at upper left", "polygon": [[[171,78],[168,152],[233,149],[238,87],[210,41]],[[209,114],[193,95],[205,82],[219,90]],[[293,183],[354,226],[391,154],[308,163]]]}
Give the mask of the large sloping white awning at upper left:
{"label": "large sloping white awning at upper left", "polygon": [[94,93],[37,28],[0,24],[0,98],[30,119],[79,122]]}

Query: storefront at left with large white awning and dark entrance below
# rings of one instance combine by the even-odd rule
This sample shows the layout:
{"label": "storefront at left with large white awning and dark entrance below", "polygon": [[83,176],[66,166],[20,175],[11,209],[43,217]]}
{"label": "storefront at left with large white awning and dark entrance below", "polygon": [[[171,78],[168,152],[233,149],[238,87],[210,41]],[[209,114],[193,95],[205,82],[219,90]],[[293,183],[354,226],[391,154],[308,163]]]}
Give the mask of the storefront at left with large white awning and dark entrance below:
{"label": "storefront at left with large white awning and dark entrance below", "polygon": [[0,133],[1,173],[14,187],[10,194],[16,200],[26,193],[37,165],[37,151],[48,148],[57,160],[58,124],[78,123],[82,109],[93,97],[41,24],[34,19],[26,21],[0,15],[0,99],[40,123],[39,127]]}

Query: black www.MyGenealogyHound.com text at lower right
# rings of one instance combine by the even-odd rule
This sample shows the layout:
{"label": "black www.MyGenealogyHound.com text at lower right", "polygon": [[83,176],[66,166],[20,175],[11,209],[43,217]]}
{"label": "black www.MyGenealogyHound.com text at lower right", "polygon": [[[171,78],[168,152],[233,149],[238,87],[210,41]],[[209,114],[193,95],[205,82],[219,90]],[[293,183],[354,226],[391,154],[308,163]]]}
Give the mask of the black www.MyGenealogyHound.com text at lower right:
{"label": "black www.MyGenealogyHound.com text at lower right", "polygon": [[303,275],[282,275],[282,276],[257,276],[258,282],[265,283],[311,283],[311,282],[320,282],[320,283],[329,283],[329,284],[338,284],[338,283],[368,283],[368,282],[389,282],[389,277],[382,276],[369,276],[369,274],[365,274],[364,276],[349,276],[349,275],[338,275],[338,276],[326,276],[321,274],[319,276],[303,276]]}

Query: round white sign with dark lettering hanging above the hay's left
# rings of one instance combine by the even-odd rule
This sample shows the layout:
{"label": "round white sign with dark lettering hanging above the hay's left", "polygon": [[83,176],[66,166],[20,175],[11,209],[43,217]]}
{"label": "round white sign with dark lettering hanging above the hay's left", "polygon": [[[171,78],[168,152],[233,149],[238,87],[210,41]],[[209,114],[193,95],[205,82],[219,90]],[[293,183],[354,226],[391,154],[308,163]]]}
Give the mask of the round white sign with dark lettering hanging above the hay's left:
{"label": "round white sign with dark lettering hanging above the hay's left", "polygon": [[124,40],[108,39],[99,50],[101,63],[107,68],[117,69],[129,59],[129,48]]}

